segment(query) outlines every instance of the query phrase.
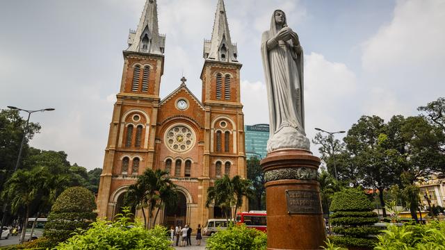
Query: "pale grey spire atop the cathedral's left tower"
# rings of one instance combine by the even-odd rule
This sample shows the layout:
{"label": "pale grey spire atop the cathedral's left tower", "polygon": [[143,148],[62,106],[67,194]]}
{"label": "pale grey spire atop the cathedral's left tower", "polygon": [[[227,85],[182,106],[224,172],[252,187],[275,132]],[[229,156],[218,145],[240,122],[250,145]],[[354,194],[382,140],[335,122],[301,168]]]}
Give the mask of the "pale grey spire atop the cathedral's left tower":
{"label": "pale grey spire atop the cathedral's left tower", "polygon": [[127,51],[163,54],[165,35],[159,35],[158,5],[156,0],[145,1],[144,10],[138,28],[131,31],[128,38]]}

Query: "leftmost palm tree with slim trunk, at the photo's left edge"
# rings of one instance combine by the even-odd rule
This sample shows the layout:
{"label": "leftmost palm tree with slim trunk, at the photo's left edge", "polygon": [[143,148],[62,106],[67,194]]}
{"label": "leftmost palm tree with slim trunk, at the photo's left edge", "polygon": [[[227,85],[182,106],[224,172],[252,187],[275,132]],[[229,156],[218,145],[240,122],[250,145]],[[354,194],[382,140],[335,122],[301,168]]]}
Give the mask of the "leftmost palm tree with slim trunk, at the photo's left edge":
{"label": "leftmost palm tree with slim trunk, at the photo's left edge", "polygon": [[6,188],[3,190],[2,196],[10,201],[13,213],[17,213],[19,208],[22,207],[26,211],[20,243],[24,241],[26,223],[31,212],[31,203],[35,201],[38,192],[45,188],[45,181],[44,168],[35,167],[31,171],[17,170],[5,183]]}

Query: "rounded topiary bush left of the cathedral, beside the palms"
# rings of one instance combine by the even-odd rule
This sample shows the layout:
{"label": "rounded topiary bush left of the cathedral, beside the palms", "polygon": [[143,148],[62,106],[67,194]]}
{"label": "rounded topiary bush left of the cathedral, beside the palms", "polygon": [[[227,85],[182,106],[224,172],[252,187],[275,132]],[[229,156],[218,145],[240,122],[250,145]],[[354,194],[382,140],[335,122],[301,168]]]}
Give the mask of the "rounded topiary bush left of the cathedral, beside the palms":
{"label": "rounded topiary bush left of the cathedral, beside the palms", "polygon": [[54,202],[48,222],[44,228],[44,237],[55,246],[71,237],[77,228],[86,229],[95,221],[97,213],[95,197],[83,187],[67,188]]}

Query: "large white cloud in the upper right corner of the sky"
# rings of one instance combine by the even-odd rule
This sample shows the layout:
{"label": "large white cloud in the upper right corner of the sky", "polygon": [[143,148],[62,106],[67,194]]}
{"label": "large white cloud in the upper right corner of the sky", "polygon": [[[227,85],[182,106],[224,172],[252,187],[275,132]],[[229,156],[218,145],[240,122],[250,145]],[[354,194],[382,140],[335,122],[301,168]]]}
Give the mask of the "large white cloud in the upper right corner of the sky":
{"label": "large white cloud in the upper right corner of the sky", "polygon": [[444,24],[445,1],[397,1],[392,21],[364,43],[364,69],[379,72],[443,62]]}

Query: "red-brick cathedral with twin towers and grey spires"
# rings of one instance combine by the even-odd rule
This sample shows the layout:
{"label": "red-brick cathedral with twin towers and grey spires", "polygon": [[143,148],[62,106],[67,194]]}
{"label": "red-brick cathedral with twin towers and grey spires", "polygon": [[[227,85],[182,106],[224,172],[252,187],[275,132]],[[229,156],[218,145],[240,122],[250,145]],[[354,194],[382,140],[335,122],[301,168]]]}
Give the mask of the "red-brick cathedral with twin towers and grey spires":
{"label": "red-brick cathedral with twin towers and grey spires", "polygon": [[[128,186],[145,169],[163,169],[177,185],[177,207],[164,207],[157,224],[196,228],[221,217],[220,208],[205,205],[208,188],[225,174],[247,176],[242,65],[230,39],[224,1],[218,0],[211,40],[203,44],[201,100],[184,77],[167,97],[159,96],[168,48],[165,35],[159,34],[156,0],[146,1],[128,44],[100,178],[99,217],[113,219],[120,213]],[[245,201],[238,210],[247,208]],[[137,217],[140,214],[136,211]]]}

